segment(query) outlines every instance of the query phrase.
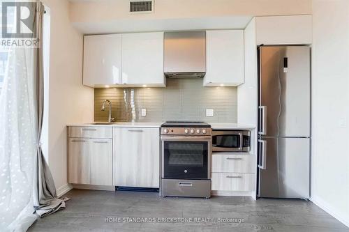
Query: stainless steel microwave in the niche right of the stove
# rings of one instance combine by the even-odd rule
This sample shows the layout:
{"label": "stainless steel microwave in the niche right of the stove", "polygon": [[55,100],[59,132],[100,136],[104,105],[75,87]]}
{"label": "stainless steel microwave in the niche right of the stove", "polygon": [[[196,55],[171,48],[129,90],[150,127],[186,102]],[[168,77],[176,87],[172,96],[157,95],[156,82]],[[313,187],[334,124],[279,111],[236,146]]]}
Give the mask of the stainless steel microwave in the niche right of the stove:
{"label": "stainless steel microwave in the niche right of the stove", "polygon": [[248,130],[213,130],[212,151],[249,151],[251,132]]}

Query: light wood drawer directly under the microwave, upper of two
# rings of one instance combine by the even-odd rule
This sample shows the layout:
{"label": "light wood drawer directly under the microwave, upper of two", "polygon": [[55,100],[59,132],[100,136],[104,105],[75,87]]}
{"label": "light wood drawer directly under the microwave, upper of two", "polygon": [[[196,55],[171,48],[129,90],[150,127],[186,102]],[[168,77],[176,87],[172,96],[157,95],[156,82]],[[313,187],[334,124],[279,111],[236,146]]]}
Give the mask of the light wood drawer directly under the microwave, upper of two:
{"label": "light wood drawer directly under the microwave, upper of two", "polygon": [[212,155],[211,172],[255,173],[254,155]]}

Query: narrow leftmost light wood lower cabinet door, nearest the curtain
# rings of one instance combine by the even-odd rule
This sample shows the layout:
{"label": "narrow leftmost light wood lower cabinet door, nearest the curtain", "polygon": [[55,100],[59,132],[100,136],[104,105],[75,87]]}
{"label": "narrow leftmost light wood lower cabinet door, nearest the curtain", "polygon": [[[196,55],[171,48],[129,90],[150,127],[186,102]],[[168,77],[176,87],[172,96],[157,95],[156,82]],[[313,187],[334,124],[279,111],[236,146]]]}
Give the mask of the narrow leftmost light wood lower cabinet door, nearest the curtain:
{"label": "narrow leftmost light wood lower cabinet door, nearest the curtain", "polygon": [[69,139],[68,182],[90,183],[90,148],[88,139]]}

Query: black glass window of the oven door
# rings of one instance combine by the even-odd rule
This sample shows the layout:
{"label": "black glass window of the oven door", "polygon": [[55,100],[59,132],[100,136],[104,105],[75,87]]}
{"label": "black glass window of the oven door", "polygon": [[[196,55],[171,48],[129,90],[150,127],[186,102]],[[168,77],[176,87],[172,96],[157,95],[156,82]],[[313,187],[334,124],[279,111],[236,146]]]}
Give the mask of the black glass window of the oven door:
{"label": "black glass window of the oven door", "polygon": [[207,141],[164,141],[164,178],[206,179]]}

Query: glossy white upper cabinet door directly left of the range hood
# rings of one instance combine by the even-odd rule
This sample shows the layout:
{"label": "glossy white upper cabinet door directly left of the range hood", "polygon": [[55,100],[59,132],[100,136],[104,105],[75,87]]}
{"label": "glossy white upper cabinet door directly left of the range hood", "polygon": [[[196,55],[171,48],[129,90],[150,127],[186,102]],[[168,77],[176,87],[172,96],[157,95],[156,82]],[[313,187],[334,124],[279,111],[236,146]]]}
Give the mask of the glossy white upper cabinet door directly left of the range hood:
{"label": "glossy white upper cabinet door directly left of the range hood", "polygon": [[122,34],[122,84],[165,86],[163,32]]}

